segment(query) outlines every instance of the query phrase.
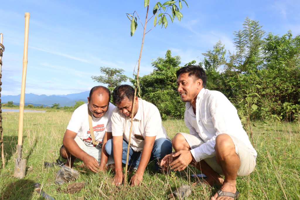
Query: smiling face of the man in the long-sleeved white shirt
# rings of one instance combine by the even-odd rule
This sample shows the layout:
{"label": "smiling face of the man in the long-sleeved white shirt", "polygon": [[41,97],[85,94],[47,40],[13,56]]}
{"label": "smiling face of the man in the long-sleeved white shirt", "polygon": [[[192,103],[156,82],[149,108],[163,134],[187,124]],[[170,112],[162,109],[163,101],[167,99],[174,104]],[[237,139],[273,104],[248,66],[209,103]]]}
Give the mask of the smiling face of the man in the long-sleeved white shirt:
{"label": "smiling face of the man in the long-sleeved white shirt", "polygon": [[188,73],[182,73],[177,79],[178,89],[183,102],[192,102],[202,89],[202,80],[194,80],[194,76],[188,76]]}

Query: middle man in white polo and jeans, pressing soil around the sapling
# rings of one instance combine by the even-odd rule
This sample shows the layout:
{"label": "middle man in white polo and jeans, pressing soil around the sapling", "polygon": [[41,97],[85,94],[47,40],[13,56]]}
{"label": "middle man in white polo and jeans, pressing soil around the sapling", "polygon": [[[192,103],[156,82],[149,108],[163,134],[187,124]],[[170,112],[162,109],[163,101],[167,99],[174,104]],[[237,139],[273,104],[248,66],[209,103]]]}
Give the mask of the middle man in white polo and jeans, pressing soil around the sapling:
{"label": "middle man in white polo and jeans, pressing soil around the sapling", "polygon": [[107,141],[105,149],[114,157],[116,175],[113,183],[116,185],[123,182],[122,163],[126,163],[131,115],[134,118],[128,165],[136,169],[130,181],[132,186],[141,184],[149,160],[155,160],[155,169],[159,170],[158,161],[172,152],[172,143],[161,125],[156,106],[136,97],[132,113],[133,97],[134,88],[130,85],[120,85],[113,91],[113,102],[117,106],[111,117],[113,139]]}

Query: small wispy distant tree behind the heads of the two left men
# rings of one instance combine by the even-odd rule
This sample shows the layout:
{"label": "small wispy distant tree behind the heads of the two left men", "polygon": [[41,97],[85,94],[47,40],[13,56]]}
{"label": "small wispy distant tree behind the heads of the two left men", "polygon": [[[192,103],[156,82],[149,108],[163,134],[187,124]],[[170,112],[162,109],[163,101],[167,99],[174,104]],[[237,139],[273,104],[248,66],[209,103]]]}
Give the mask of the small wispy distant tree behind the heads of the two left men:
{"label": "small wispy distant tree behind the heads of the two left men", "polygon": [[127,81],[129,78],[123,74],[123,69],[100,67],[101,76],[91,76],[94,81],[99,83],[108,84],[108,88],[112,91],[116,86],[121,85],[122,82]]}

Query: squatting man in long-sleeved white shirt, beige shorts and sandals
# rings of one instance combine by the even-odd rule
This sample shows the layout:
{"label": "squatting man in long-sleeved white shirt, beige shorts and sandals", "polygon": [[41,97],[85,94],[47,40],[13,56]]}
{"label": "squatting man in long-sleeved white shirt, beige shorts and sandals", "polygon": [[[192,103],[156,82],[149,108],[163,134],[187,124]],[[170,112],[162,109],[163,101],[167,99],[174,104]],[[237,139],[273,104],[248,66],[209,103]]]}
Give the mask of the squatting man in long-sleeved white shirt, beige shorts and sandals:
{"label": "squatting man in long-sleeved white shirt, beige shorts and sandals", "polygon": [[205,89],[202,67],[182,67],[176,75],[181,100],[187,102],[184,121],[190,134],[173,138],[176,152],[164,157],[161,165],[181,171],[193,161],[209,185],[222,185],[211,199],[236,199],[236,177],[249,175],[257,156],[237,111],[221,92]]}

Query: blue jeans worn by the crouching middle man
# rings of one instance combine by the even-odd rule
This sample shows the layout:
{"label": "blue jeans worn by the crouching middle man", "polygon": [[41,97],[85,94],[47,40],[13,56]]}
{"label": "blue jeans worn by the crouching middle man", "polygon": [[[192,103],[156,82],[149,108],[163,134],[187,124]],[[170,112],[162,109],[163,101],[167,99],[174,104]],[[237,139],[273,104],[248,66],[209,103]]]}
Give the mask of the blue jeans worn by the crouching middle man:
{"label": "blue jeans worn by the crouching middle man", "polygon": [[[128,143],[123,140],[123,151],[122,151],[122,163],[126,164],[126,156],[127,156],[127,148]],[[105,145],[105,150],[107,154],[113,155],[113,139],[107,141]],[[151,152],[150,161],[153,160],[161,160],[164,158],[165,155],[172,153],[172,143],[170,140],[166,138],[159,138],[154,141],[154,145]],[[137,152],[134,151],[132,148],[129,148],[129,157],[128,157],[128,166],[132,168],[136,168],[140,164],[142,151]],[[155,162],[156,170],[159,169],[159,165]]]}

